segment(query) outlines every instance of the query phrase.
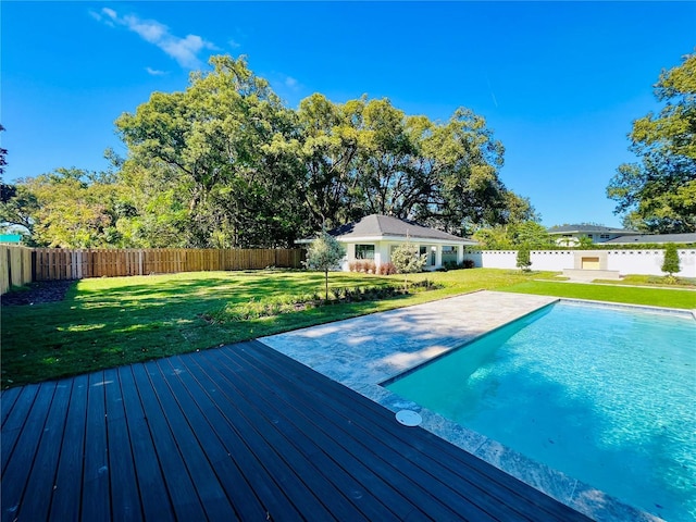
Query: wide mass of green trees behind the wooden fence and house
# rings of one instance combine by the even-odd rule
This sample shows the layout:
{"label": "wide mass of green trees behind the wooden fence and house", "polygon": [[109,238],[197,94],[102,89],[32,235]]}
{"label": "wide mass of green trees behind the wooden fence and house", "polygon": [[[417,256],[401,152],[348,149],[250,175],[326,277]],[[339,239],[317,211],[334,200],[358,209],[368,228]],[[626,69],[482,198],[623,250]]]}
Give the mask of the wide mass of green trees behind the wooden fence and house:
{"label": "wide mass of green trees behind the wooden fence and house", "polygon": [[439,122],[321,94],[293,110],[244,58],[211,58],[115,126],[127,152],[109,152],[113,172],[25,178],[3,219],[40,245],[200,248],[293,246],[371,213],[458,235],[538,220],[501,182],[505,149],[471,110]]}

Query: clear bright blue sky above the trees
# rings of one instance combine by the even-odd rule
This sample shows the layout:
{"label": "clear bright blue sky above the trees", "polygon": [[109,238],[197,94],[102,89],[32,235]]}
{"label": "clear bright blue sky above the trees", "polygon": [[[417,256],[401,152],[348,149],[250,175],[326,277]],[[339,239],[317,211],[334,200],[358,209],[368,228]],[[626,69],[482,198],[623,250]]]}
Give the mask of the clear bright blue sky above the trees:
{"label": "clear bright blue sky above the trees", "polygon": [[114,120],[245,54],[288,107],[366,94],[484,116],[502,182],[547,226],[620,226],[605,196],[652,85],[696,46],[696,2],[21,2],[0,5],[5,181],[107,167]]}

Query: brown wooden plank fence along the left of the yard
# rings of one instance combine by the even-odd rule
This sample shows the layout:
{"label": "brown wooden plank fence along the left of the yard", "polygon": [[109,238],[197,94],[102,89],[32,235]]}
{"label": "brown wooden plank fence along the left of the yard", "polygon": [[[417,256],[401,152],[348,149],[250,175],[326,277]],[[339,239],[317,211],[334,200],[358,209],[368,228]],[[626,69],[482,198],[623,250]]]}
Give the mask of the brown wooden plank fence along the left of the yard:
{"label": "brown wooden plank fence along the left of the yard", "polygon": [[[295,249],[62,249],[3,246],[1,293],[33,281],[83,279],[177,272],[300,269],[304,250]],[[22,277],[16,275],[22,273]]]}

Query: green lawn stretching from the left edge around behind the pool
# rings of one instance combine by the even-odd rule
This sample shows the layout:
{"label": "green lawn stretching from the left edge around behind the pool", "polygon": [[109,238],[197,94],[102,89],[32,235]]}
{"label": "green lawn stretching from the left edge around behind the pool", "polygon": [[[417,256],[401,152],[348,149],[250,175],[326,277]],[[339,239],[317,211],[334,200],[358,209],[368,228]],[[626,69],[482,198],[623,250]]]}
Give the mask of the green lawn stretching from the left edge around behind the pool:
{"label": "green lawn stretching from the left edge around behind the pool", "polygon": [[[2,309],[1,386],[112,368],[262,337],[477,289],[696,308],[684,290],[557,283],[556,274],[493,269],[417,274],[443,287],[382,301],[346,302],[246,321],[207,321],[227,306],[322,294],[323,274],[199,272],[77,282],[65,300]],[[394,285],[401,276],[333,273],[331,287]]]}

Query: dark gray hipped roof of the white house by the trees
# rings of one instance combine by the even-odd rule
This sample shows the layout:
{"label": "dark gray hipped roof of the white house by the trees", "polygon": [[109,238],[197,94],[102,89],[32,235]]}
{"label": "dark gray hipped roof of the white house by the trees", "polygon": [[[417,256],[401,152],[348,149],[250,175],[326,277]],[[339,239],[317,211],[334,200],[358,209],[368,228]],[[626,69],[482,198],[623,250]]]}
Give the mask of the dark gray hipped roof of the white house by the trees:
{"label": "dark gray hipped roof of the white house by the trees", "polygon": [[343,240],[351,238],[374,238],[376,239],[402,239],[407,235],[413,239],[437,239],[443,241],[470,243],[472,239],[464,239],[446,232],[419,225],[412,221],[399,220],[390,215],[371,214],[355,223],[341,225],[333,231],[328,231],[332,236]]}

